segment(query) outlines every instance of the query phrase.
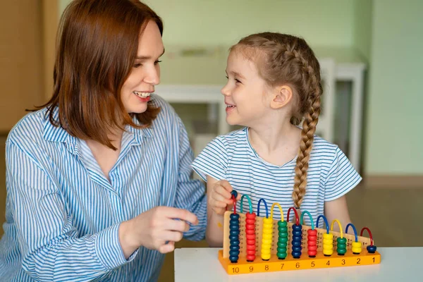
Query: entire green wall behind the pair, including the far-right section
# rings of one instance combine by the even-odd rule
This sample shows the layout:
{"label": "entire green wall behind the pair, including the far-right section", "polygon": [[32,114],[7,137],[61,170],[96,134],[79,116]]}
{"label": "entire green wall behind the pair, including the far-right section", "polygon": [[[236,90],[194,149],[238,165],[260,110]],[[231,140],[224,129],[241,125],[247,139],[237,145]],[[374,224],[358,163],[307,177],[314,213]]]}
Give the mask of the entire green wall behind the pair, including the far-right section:
{"label": "entire green wall behind the pair, including the far-right section", "polygon": [[[70,0],[59,0],[60,11]],[[167,47],[229,46],[252,32],[300,35],[314,48],[347,48],[369,63],[366,174],[423,174],[423,1],[147,0],[164,18]],[[165,67],[165,65],[164,65]],[[204,68],[204,77],[207,68]],[[164,71],[164,78],[166,72]]]}

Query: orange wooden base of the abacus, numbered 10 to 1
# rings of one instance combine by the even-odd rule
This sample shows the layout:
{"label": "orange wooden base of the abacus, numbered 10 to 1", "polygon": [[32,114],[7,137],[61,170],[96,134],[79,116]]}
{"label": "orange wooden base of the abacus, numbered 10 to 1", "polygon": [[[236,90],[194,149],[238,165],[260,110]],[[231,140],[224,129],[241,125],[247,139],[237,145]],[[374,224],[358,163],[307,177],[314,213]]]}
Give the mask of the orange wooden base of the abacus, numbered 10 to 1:
{"label": "orange wooden base of the abacus, numbered 10 to 1", "polygon": [[238,262],[232,263],[228,258],[223,258],[223,250],[219,250],[219,261],[228,274],[250,274],[257,272],[301,270],[301,269],[321,269],[339,266],[360,266],[369,264],[380,264],[381,254],[375,252],[370,254],[363,250],[360,255],[354,255],[351,250],[343,256],[333,253],[330,257],[325,257],[318,252],[316,257],[308,257],[307,253],[302,254],[300,259],[294,259],[288,255],[286,259],[278,259],[272,255],[268,261],[256,257],[254,262],[247,262],[245,257],[240,257]]}

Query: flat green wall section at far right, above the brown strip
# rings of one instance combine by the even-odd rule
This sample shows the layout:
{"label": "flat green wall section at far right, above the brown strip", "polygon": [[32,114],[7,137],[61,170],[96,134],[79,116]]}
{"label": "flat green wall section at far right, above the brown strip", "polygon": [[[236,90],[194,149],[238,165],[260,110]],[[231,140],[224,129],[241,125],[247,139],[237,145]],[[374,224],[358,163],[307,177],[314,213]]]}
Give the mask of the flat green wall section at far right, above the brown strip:
{"label": "flat green wall section at far right, above the brown strip", "polygon": [[423,1],[374,0],[368,174],[423,173]]}

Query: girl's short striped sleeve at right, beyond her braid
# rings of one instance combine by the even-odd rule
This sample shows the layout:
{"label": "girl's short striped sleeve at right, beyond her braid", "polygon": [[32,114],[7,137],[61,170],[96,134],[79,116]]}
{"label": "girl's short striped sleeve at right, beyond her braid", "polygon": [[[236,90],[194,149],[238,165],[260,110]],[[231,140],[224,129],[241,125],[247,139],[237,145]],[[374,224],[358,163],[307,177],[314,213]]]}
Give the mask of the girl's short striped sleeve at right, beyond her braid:
{"label": "girl's short striped sleeve at right, beyond her braid", "polygon": [[336,200],[355,188],[362,180],[350,160],[336,147],[335,157],[325,183],[325,201]]}

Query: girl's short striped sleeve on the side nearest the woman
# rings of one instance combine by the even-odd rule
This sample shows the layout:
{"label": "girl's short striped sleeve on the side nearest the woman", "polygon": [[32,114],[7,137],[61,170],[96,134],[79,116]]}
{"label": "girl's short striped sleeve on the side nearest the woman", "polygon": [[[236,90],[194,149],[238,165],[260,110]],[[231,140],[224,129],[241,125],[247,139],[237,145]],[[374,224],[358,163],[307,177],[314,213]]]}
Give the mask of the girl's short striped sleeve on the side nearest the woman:
{"label": "girl's short striped sleeve on the side nearest the woman", "polygon": [[228,149],[224,137],[218,136],[209,142],[195,158],[192,168],[204,181],[207,181],[207,176],[216,180],[226,179]]}

